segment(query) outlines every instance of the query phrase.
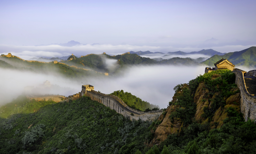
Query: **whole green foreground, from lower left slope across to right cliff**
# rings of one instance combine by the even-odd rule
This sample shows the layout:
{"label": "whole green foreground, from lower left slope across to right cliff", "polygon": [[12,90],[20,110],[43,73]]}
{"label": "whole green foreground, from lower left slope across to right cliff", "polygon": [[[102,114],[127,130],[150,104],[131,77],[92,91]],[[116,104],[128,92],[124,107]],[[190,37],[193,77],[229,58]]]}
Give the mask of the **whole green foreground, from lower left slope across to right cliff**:
{"label": "whole green foreground, from lower left slope across to right cliff", "polygon": [[[174,87],[175,100],[168,103],[168,108],[154,122],[127,120],[89,97],[56,103],[19,96],[0,107],[0,153],[256,153],[256,123],[245,122],[239,102],[227,104],[227,98],[239,94],[239,90],[234,89],[237,89],[235,75],[230,70],[200,75],[189,84]],[[199,99],[203,91],[207,91],[207,95],[199,103],[204,106],[198,108],[193,97]],[[212,102],[207,107],[208,100]],[[201,116],[200,120],[195,119],[197,110],[203,111],[197,115]],[[213,123],[223,116],[224,120]],[[216,128],[217,125],[220,127]],[[177,131],[162,132],[169,135],[156,144],[160,141],[156,136],[161,132],[159,127]]]}

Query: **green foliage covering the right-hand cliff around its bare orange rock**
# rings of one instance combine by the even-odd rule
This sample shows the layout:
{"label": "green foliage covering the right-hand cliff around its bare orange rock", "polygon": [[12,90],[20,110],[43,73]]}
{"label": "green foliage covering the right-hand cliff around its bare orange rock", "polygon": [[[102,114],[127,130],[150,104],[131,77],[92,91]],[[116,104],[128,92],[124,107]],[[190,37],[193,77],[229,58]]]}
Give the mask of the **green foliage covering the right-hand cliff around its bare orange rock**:
{"label": "green foliage covering the right-hand cliff around its bare orange rock", "polygon": [[[214,80],[210,80],[212,75],[220,74]],[[219,92],[219,97],[214,100],[213,107],[209,108],[210,113],[205,113],[205,117],[210,117],[216,110],[225,104],[223,97],[228,97],[239,91],[231,91],[235,85],[235,75],[230,70],[218,70],[198,76],[196,79],[189,82],[189,89],[192,94],[195,94],[196,88],[200,82],[205,82],[210,93]],[[217,86],[218,85],[218,86]],[[187,88],[183,85],[177,85],[174,90],[185,91],[180,93],[180,96],[188,97]],[[182,97],[179,97],[181,99]],[[189,99],[189,98],[188,98]],[[181,105],[181,101],[178,105]],[[193,104],[188,104],[187,107],[193,107]],[[177,112],[177,111],[176,111]],[[166,154],[251,154],[256,153],[256,123],[248,120],[245,122],[242,113],[239,113],[235,108],[228,107],[223,110],[227,112],[228,117],[223,121],[224,125],[219,129],[210,129],[210,123],[200,124],[198,121],[191,119],[191,123],[181,130],[180,133],[174,133],[162,142],[159,146],[161,153]],[[179,116],[177,114],[176,116]],[[167,150],[166,150],[167,147]],[[164,151],[164,152],[163,152]],[[148,154],[155,154],[150,149]],[[156,152],[158,153],[158,152]]]}

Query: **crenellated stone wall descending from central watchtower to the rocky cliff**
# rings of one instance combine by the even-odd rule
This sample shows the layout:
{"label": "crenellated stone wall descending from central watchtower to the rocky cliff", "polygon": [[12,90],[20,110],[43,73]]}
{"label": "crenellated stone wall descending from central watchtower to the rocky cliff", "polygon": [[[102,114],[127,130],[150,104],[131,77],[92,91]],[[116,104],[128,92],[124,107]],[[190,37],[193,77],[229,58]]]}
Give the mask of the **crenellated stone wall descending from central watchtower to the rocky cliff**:
{"label": "crenellated stone wall descending from central watchtower to the rocky cliff", "polygon": [[92,100],[97,101],[105,106],[114,109],[117,113],[122,114],[125,118],[130,120],[155,120],[161,114],[162,110],[143,112],[135,110],[127,106],[119,97],[115,95],[107,95],[94,90],[86,91],[86,96],[89,96]]}

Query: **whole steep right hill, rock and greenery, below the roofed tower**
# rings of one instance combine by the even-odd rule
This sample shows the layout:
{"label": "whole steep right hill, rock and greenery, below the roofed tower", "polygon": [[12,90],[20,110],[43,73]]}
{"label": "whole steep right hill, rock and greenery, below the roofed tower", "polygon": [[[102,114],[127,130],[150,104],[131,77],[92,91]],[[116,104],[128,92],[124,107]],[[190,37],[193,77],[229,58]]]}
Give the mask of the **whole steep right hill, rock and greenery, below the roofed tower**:
{"label": "whole steep right hill, rock and greenery, below the roofed tower", "polygon": [[234,73],[212,71],[174,90],[169,107],[151,126],[151,146],[169,154],[256,153],[256,124],[240,113]]}

